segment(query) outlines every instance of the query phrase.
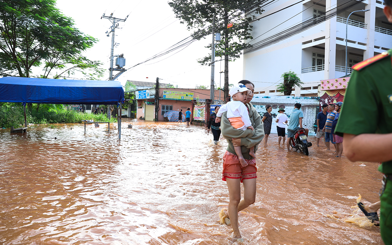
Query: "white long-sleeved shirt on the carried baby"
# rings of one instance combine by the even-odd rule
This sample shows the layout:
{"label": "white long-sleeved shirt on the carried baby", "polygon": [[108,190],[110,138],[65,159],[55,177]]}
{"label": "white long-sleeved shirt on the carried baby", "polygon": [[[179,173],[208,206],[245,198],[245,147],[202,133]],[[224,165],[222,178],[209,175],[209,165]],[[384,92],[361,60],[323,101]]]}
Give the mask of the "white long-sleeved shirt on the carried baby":
{"label": "white long-sleeved shirt on the carried baby", "polygon": [[248,109],[244,103],[235,100],[229,101],[221,106],[216,116],[221,117],[222,114],[226,111],[227,111],[226,114],[227,118],[241,117],[241,120],[244,123],[244,125],[238,129],[245,130],[247,129],[247,127],[252,125],[249,119]]}

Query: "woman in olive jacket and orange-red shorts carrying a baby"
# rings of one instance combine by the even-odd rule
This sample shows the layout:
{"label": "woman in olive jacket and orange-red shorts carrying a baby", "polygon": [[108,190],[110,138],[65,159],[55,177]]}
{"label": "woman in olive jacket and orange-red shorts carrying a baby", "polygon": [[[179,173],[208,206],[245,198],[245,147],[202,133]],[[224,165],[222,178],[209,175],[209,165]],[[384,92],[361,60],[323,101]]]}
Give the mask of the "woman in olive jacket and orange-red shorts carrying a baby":
{"label": "woman in olive jacket and orange-red shorts carrying a baby", "polygon": [[[257,145],[263,140],[264,129],[259,113],[250,103],[253,98],[254,85],[248,80],[239,83],[245,85],[250,91],[247,100],[244,102],[249,111],[249,119],[252,129],[235,129],[227,118],[227,113],[221,117],[222,136],[226,138],[229,146],[223,156],[222,180],[226,181],[229,189],[229,209],[228,217],[234,232],[234,238],[241,241],[241,234],[238,228],[238,212],[253,204],[256,199],[256,160],[250,156],[249,151],[256,152]],[[242,156],[247,162],[243,166],[234,150],[234,147],[241,146]],[[241,199],[241,183],[243,183],[244,193]]]}

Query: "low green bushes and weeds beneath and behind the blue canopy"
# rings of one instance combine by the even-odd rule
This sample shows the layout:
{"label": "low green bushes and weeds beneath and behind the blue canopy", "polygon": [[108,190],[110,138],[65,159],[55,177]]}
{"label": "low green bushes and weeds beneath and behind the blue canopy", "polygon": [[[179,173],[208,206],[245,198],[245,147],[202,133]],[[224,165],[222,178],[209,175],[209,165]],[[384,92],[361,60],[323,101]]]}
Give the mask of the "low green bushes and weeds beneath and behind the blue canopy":
{"label": "low green bushes and weeds beneath and behind the blue canopy", "polygon": [[[107,122],[106,114],[89,114],[78,111],[67,110],[63,105],[41,104],[37,109],[31,111],[26,109],[27,123],[81,123],[82,120],[94,122]],[[111,118],[110,122],[117,122]],[[24,113],[22,103],[0,103],[0,128],[19,127],[24,124]]]}

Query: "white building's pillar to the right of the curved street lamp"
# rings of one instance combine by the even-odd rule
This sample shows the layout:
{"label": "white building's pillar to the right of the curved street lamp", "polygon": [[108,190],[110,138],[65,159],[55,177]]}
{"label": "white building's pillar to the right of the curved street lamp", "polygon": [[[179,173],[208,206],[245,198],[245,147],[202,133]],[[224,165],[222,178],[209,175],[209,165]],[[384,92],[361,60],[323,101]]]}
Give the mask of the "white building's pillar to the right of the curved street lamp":
{"label": "white building's pillar to the right of the curved street lamp", "polygon": [[367,24],[367,44],[366,50],[363,51],[363,60],[374,56],[374,26],[376,25],[376,0],[368,0],[365,9],[365,23]]}

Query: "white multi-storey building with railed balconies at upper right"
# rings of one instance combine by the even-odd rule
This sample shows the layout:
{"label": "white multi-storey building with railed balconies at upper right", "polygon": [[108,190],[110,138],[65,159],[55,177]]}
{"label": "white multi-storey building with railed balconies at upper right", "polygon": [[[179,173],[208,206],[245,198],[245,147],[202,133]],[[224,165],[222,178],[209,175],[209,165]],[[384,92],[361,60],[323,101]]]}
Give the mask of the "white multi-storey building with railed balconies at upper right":
{"label": "white multi-storey building with railed balconies at upper right", "polygon": [[[283,73],[294,71],[304,84],[292,95],[317,96],[320,80],[345,76],[346,22],[353,11],[368,10],[352,13],[348,20],[348,73],[352,65],[392,48],[392,24],[383,7],[379,0],[272,2],[259,16],[265,17],[252,23],[254,46],[244,52],[243,78],[257,82],[255,91],[281,95],[275,85]],[[279,42],[268,43],[279,35]]]}

